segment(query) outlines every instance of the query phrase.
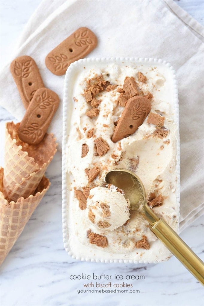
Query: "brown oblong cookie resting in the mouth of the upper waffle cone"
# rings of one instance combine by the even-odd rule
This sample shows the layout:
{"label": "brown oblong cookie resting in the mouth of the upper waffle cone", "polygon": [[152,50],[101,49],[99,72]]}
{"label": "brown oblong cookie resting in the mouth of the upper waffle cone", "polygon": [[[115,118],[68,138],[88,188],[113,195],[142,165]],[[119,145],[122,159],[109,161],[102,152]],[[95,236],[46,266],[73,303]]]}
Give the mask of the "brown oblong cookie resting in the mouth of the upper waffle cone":
{"label": "brown oblong cookie resting in the mouth of the upper waffle cone", "polygon": [[31,145],[39,144],[58,106],[59,97],[54,91],[48,88],[38,89],[19,126],[19,138]]}

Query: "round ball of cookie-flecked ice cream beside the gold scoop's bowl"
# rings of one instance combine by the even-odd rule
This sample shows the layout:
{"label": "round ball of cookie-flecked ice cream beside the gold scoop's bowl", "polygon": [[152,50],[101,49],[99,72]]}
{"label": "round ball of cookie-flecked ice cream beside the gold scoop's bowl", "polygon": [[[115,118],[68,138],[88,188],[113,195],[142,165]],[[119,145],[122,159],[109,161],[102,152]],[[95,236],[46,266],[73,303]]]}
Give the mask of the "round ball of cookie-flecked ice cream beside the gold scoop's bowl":
{"label": "round ball of cookie-flecked ice cream beside the gold scoop's bowl", "polygon": [[129,206],[129,200],[117,187],[95,187],[87,199],[88,219],[99,229],[115,230],[129,219]]}

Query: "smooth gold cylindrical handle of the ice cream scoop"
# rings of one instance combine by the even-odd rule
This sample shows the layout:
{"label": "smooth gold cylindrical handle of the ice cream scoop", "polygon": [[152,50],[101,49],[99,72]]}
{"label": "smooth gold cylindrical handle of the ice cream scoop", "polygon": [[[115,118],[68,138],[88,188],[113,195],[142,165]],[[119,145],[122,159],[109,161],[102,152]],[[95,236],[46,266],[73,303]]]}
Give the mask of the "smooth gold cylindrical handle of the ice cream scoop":
{"label": "smooth gold cylindrical handle of the ice cream scoop", "polygon": [[149,228],[184,267],[204,285],[204,263],[176,232],[162,218],[154,222]]}

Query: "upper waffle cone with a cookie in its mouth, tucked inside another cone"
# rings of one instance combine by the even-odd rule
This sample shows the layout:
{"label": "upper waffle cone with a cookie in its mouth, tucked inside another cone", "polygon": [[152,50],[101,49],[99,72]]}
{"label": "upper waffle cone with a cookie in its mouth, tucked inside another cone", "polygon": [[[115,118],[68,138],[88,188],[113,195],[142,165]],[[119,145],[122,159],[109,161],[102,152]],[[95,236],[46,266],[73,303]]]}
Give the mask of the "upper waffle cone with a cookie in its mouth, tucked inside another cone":
{"label": "upper waffle cone with a cookie in its mouth, tucked inside another cone", "polygon": [[57,151],[53,134],[46,134],[34,146],[21,141],[19,125],[6,123],[3,191],[8,202],[16,202],[19,197],[26,199],[36,190]]}

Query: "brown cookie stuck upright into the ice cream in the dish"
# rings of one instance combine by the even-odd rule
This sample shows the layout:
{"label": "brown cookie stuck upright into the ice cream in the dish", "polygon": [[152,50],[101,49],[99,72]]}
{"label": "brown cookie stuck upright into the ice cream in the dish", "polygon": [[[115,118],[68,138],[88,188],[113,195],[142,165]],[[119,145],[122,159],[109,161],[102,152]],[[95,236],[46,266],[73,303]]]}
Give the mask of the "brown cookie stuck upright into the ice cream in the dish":
{"label": "brown cookie stuck upright into the ice cream in the dish", "polygon": [[149,99],[138,95],[130,98],[115,127],[111,140],[115,143],[132,135],[144,122],[150,110],[151,102]]}

